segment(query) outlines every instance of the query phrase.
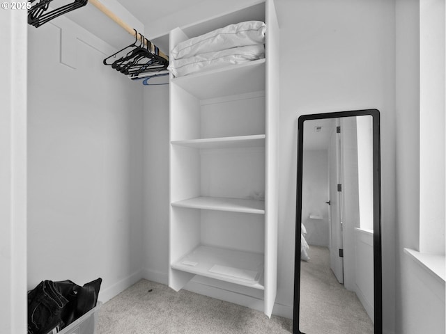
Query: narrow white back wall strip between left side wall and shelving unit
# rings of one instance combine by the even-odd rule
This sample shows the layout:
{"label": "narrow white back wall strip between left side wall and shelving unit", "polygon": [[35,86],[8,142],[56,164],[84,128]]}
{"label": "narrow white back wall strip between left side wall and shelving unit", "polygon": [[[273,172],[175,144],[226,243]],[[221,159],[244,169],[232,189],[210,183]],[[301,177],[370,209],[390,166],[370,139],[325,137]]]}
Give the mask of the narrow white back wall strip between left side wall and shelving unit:
{"label": "narrow white back wall strip between left side wall and shelving unit", "polygon": [[144,276],[169,269],[169,86],[144,88]]}

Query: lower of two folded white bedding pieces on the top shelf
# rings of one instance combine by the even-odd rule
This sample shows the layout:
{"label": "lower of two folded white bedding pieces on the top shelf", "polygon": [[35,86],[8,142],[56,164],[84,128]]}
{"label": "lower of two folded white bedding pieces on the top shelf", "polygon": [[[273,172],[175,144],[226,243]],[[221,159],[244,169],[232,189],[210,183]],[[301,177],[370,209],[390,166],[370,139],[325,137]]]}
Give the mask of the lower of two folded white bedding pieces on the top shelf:
{"label": "lower of two folded white bedding pieces on the top shelf", "polygon": [[265,46],[263,44],[249,45],[173,60],[170,61],[167,69],[175,77],[183,77],[201,70],[215,70],[227,65],[246,63],[261,58],[265,58]]}

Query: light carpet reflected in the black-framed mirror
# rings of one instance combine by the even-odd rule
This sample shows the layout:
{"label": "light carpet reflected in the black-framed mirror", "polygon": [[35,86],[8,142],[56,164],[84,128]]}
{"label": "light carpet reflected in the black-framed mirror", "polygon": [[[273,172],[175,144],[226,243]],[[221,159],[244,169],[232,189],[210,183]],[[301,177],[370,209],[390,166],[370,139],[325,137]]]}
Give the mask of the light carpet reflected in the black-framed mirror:
{"label": "light carpet reflected in the black-framed mirror", "polygon": [[310,246],[300,262],[300,331],[306,334],[374,334],[374,325],[354,292],[330,269],[328,248]]}

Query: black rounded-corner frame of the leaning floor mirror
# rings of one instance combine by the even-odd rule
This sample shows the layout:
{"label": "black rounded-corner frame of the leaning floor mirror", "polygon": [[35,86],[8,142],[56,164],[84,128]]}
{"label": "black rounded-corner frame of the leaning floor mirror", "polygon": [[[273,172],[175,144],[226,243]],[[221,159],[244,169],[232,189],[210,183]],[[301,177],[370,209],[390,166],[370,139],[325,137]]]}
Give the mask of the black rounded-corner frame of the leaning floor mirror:
{"label": "black rounded-corner frame of the leaning floor mirror", "polygon": [[303,115],[298,120],[298,178],[296,188],[295,252],[294,252],[294,309],[293,333],[305,334],[299,330],[300,310],[300,233],[302,221],[302,157],[305,120],[323,118],[344,118],[371,116],[373,119],[373,170],[374,170],[374,333],[383,333],[383,282],[381,259],[381,176],[380,176],[380,113],[377,109],[339,111]]}

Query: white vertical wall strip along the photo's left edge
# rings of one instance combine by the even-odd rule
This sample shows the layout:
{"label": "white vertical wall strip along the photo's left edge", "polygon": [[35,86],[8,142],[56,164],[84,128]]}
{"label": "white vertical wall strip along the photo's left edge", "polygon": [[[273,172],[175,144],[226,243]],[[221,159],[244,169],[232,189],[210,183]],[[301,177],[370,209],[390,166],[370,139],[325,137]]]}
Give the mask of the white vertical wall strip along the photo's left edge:
{"label": "white vertical wall strip along the photo's left edge", "polygon": [[0,333],[26,332],[26,11],[0,11]]}

